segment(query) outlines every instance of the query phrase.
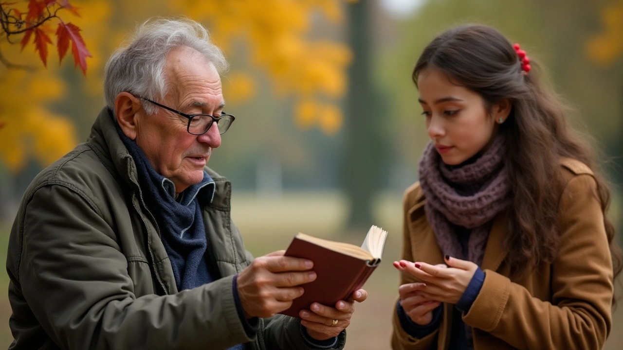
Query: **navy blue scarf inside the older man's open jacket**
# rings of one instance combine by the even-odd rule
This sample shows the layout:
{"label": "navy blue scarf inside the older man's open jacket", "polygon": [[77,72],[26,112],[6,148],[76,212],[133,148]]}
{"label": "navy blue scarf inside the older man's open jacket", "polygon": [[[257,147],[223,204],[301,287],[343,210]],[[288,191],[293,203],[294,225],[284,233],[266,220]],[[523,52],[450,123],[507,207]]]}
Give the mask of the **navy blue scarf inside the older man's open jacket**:
{"label": "navy blue scarf inside the older man's open jacket", "polygon": [[205,257],[206,231],[197,193],[208,187],[207,196],[211,199],[214,196],[214,181],[204,171],[203,180],[181,192],[176,201],[173,181],[158,174],[135,141],[125,136],[117,123],[115,126],[136,163],[143,199],[158,224],[178,290],[210,283],[214,278],[209,273]]}

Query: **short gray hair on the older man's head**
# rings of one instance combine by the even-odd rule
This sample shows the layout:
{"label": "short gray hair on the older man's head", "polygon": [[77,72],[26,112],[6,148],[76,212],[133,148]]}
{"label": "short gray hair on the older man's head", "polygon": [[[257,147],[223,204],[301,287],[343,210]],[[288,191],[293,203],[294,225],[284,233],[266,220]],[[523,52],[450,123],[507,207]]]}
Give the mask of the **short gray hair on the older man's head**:
{"label": "short gray hair on the older man's head", "polygon": [[[130,44],[115,50],[106,63],[104,95],[108,108],[115,110],[115,98],[121,92],[151,100],[164,98],[169,88],[163,73],[166,55],[184,46],[197,50],[219,75],[226,72],[228,64],[221,49],[210,42],[206,28],[198,22],[186,18],[147,20],[137,27]],[[144,108],[153,114],[156,106],[146,103]]]}

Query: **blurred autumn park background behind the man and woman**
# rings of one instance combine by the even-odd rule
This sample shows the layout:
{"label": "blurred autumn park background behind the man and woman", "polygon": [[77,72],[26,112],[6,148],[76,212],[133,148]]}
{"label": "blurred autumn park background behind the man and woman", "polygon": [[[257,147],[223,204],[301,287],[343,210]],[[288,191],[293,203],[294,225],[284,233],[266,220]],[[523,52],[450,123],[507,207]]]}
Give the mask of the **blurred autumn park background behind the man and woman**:
{"label": "blurred autumn park background behind the man and woman", "polygon": [[[471,22],[494,26],[520,43],[578,111],[571,122],[603,150],[602,166],[614,190],[610,215],[621,232],[623,0],[72,4],[81,16],[64,16],[82,29],[93,56],[86,77],[68,60],[59,65],[56,55],[44,69],[32,47],[21,51],[0,38],[8,60],[37,67],[0,66],[0,242],[32,177],[87,138],[103,106],[108,56],[153,16],[201,21],[231,62],[223,77],[224,97],[237,121],[210,166],[232,180],[232,215],[255,255],[285,248],[298,231],[360,243],[361,227],[380,224],[390,232],[387,260],[397,257],[401,194],[417,180],[428,141],[411,71],[436,34]],[[363,340],[350,337],[350,349],[389,347],[397,274],[384,265],[366,285],[378,298],[361,305],[363,315],[351,328]],[[9,313],[6,298],[0,299],[7,339]],[[381,326],[379,317],[385,320]],[[381,340],[375,343],[366,334]],[[607,349],[620,349],[614,344],[623,341],[621,311],[612,334]]]}

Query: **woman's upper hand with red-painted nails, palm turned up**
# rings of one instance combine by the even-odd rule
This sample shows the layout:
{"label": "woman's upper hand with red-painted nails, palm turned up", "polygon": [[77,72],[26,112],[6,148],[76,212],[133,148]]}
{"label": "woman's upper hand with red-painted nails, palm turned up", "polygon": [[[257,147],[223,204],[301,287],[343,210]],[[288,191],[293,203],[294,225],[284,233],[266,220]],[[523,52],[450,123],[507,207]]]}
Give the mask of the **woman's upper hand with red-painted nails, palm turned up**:
{"label": "woman's upper hand with red-painted nails, palm turned up", "polygon": [[467,289],[478,265],[466,260],[448,257],[445,259],[448,267],[430,265],[424,262],[407,262],[401,260],[399,269],[411,273],[422,283],[412,283],[412,291],[419,295],[441,303],[456,304]]}

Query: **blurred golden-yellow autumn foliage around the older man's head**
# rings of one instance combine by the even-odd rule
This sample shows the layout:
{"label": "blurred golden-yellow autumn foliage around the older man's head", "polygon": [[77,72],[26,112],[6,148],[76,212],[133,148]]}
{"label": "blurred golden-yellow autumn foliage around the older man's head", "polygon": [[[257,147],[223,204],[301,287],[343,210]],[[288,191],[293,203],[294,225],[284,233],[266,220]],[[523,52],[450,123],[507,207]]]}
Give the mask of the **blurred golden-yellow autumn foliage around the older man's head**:
{"label": "blurred golden-yellow autumn foliage around the older man's head", "polygon": [[[3,166],[10,174],[17,174],[32,158],[42,165],[49,164],[77,142],[75,128],[78,135],[88,132],[90,116],[97,115],[102,106],[106,58],[132,26],[164,14],[190,16],[203,22],[212,40],[230,57],[241,57],[234,51],[244,46],[245,59],[268,78],[270,90],[288,105],[293,102],[293,121],[298,127],[319,128],[328,136],[336,135],[343,125],[339,103],[346,94],[346,67],[352,55],[347,45],[321,36],[313,38],[311,32],[319,18],[340,24],[348,2],[72,0],[82,17],[75,16],[76,7],[62,0],[2,2],[2,30],[6,35],[1,39],[0,52],[4,62],[12,68],[19,65],[41,69],[6,69],[7,65],[2,69],[0,65],[0,122],[6,124],[0,132],[8,136],[0,138],[0,179]],[[88,55],[79,45],[83,42],[72,40],[72,34],[78,31],[69,24],[83,29],[83,42],[93,55],[88,60],[87,78],[79,81],[73,80],[68,70],[50,64],[55,59],[49,55],[52,44],[60,49],[59,63],[64,57],[62,34],[66,29],[69,45],[77,45],[77,50],[72,51],[78,54],[74,55],[75,62],[85,67],[82,63]],[[37,56],[27,54],[29,47],[36,50]],[[24,52],[20,52],[22,49]],[[34,57],[40,62],[35,62]],[[42,69],[42,63],[47,69]],[[236,67],[223,80],[229,102],[248,100],[259,90],[257,77]],[[67,113],[72,122],[52,113],[50,105],[57,112]]]}

